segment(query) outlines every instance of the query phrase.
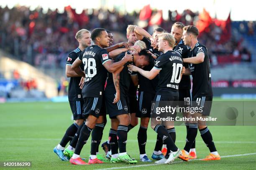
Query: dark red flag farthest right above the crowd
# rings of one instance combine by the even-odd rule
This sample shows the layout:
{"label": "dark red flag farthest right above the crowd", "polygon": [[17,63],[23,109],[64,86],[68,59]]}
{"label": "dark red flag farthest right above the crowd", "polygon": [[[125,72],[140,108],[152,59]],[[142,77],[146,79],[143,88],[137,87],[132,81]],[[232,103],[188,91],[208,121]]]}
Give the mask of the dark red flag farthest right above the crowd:
{"label": "dark red flag farthest right above the crowd", "polygon": [[231,38],[231,19],[230,13],[228,15],[228,19],[221,23],[220,25],[222,33],[220,35],[220,43],[225,43]]}

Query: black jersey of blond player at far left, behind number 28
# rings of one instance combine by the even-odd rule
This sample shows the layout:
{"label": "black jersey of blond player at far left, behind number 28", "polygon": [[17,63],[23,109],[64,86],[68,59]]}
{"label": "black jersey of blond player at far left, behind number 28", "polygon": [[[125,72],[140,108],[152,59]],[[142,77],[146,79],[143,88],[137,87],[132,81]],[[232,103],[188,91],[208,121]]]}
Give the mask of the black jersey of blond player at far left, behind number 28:
{"label": "black jersey of blond player at far left, behind number 28", "polygon": [[[67,57],[66,65],[72,65],[74,60],[80,55],[82,51],[77,47],[75,50],[69,53]],[[81,70],[84,70],[84,66],[80,65]],[[70,77],[68,87],[68,97],[70,101],[83,100],[82,90],[79,88],[79,83],[82,77]]]}

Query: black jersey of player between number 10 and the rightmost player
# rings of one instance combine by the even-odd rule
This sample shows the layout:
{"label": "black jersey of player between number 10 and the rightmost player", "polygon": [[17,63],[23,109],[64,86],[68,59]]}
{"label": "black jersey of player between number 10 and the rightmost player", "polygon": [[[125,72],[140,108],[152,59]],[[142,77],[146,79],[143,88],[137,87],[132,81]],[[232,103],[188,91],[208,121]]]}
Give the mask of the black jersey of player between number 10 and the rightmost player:
{"label": "black jersey of player between number 10 and the rightmost player", "polygon": [[[182,58],[189,57],[189,50],[190,48],[184,44],[183,40],[180,40],[179,44],[173,47],[173,50],[178,52]],[[188,63],[184,62],[183,66],[188,68]],[[187,90],[191,89],[191,82],[189,75],[182,75],[182,79],[179,82],[179,90]]]}

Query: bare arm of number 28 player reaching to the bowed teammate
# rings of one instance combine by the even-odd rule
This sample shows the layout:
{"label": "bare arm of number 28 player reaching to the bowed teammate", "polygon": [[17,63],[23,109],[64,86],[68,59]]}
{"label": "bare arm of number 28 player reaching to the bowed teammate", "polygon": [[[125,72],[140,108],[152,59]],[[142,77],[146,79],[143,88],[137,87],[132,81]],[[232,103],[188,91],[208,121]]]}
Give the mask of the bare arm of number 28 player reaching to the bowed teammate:
{"label": "bare arm of number 28 player reaching to the bowed teammate", "polygon": [[120,67],[123,67],[123,65],[125,65],[126,62],[129,61],[133,61],[133,55],[131,54],[127,54],[127,52],[125,53],[125,56],[123,57],[122,60],[118,61],[118,62],[114,62],[112,63],[112,61],[107,61],[104,63],[104,67],[108,70],[108,72],[114,72],[116,70],[118,70]]}

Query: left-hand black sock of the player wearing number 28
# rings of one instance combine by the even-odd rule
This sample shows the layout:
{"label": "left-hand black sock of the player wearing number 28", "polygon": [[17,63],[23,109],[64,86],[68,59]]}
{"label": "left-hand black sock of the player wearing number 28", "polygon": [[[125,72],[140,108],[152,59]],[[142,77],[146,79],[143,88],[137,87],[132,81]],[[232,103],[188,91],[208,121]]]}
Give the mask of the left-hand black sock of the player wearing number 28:
{"label": "left-hand black sock of the player wearing number 28", "polygon": [[87,140],[90,137],[91,132],[92,132],[91,128],[87,127],[87,125],[83,125],[80,135],[79,135],[79,139],[77,141],[77,146],[74,151],[74,154],[80,155],[81,150],[82,150],[84,144],[87,143]]}

